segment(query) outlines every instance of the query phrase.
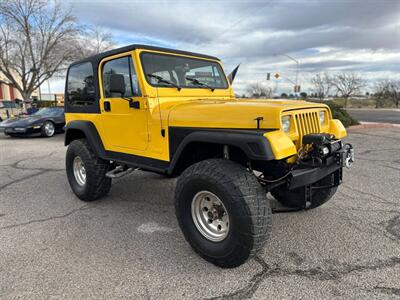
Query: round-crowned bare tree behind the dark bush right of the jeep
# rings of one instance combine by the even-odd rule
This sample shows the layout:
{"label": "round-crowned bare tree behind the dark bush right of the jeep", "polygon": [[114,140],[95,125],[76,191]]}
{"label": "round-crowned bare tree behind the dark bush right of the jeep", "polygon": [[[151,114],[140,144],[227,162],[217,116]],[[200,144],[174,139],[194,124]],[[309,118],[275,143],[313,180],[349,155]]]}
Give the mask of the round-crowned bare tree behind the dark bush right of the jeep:
{"label": "round-crowned bare tree behind the dark bush right of the jeep", "polygon": [[357,73],[339,73],[330,77],[329,82],[336,89],[336,93],[344,98],[345,107],[349,97],[359,93],[365,86],[364,80]]}

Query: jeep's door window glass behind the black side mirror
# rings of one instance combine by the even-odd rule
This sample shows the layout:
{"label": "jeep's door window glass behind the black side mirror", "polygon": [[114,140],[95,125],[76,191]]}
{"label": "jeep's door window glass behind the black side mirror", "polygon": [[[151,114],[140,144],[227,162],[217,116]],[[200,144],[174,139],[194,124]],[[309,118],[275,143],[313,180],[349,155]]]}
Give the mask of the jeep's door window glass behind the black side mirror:
{"label": "jeep's door window glass behind the black side mirror", "polygon": [[125,78],[125,94],[124,97],[140,96],[139,83],[130,56],[121,57],[107,61],[103,66],[103,88],[104,97],[112,98],[120,95],[110,93],[110,75],[122,74]]}

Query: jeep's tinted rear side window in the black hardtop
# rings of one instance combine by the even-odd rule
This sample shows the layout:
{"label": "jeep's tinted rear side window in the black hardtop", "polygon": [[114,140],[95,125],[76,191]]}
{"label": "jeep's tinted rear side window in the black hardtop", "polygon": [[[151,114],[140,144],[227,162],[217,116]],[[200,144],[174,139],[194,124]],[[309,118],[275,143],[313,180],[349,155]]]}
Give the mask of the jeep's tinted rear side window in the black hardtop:
{"label": "jeep's tinted rear side window in the black hardtop", "polygon": [[91,105],[96,101],[93,67],[90,62],[74,65],[69,69],[67,101],[71,105]]}

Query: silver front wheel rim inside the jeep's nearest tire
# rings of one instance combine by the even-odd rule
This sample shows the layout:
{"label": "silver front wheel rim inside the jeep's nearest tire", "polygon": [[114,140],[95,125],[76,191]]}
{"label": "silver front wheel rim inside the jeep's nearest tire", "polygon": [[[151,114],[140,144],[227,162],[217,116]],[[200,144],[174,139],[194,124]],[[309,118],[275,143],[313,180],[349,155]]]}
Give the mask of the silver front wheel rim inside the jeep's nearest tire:
{"label": "silver front wheel rim inside the jeep's nearest tire", "polygon": [[194,224],[206,239],[220,242],[228,236],[228,211],[215,194],[208,191],[198,192],[193,197],[191,212]]}

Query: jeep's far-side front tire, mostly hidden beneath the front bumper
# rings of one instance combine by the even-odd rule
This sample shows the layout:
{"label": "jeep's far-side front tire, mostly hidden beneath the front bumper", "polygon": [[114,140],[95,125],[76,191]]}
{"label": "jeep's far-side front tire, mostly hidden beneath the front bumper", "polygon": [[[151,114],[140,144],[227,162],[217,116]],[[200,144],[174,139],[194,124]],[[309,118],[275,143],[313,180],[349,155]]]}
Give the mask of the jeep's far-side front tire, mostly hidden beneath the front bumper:
{"label": "jeep's far-side front tire, mostly hidden beneath the front bumper", "polygon": [[[333,178],[332,175],[329,175],[317,183],[315,186],[327,186],[330,185]],[[287,190],[282,186],[277,187],[271,190],[272,196],[278,200],[283,206],[288,208],[300,209],[304,206],[304,197],[302,193],[302,188],[294,189],[294,190]],[[335,195],[337,191],[337,187],[327,188],[327,189],[320,189],[320,190],[313,190],[312,194],[312,201],[311,204],[307,207],[307,209],[313,209],[316,207],[321,206],[322,204],[328,202],[333,195]]]}

